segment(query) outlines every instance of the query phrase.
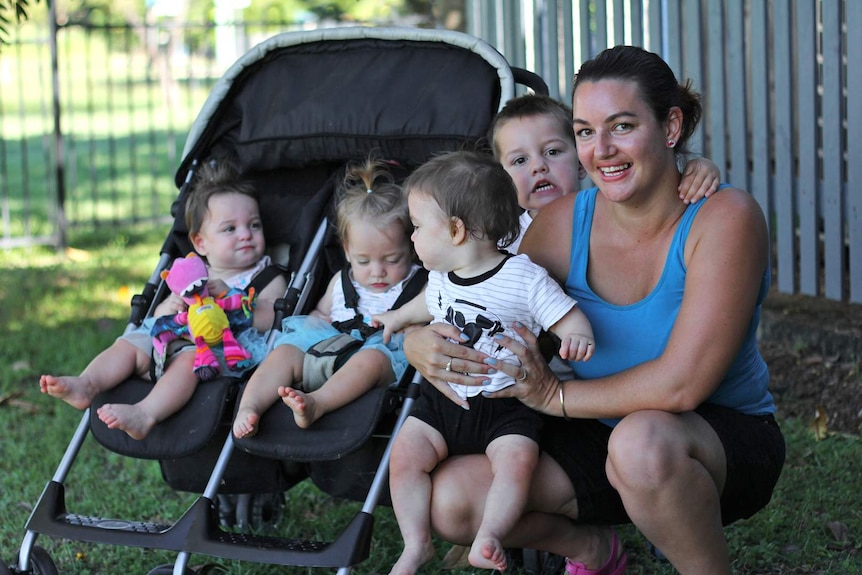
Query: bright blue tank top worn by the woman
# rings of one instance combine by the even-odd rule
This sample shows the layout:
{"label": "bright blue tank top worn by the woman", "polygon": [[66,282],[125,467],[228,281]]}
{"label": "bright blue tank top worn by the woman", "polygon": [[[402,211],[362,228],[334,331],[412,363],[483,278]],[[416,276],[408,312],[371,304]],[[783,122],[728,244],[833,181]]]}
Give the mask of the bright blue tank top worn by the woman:
{"label": "bright blue tank top worn by the woman", "polygon": [[[596,339],[596,351],[590,361],[571,364],[578,379],[611,375],[655,359],[664,351],[685,289],[685,242],[695,216],[707,201],[690,204],[684,212],[668,250],[661,278],[652,292],[639,302],[620,306],[606,302],[587,284],[590,230],[597,193],[598,188],[583,190],[575,199],[571,267],[565,286],[590,319]],[[775,411],[775,403],[768,391],[769,371],[757,347],[757,325],[769,282],[767,266],[757,306],[739,353],[707,403],[752,415]],[[615,425],[619,420],[604,421]]]}

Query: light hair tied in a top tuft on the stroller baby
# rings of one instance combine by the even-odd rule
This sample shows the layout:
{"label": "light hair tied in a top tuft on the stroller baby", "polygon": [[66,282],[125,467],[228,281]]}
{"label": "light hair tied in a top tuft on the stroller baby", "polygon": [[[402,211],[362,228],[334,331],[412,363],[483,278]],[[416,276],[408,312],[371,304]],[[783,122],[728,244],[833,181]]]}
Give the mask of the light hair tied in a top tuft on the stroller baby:
{"label": "light hair tied in a top tuft on the stroller baby", "polygon": [[384,229],[396,223],[409,237],[413,230],[401,186],[383,160],[369,157],[347,169],[338,191],[335,221],[338,237],[350,241],[350,224],[357,220]]}

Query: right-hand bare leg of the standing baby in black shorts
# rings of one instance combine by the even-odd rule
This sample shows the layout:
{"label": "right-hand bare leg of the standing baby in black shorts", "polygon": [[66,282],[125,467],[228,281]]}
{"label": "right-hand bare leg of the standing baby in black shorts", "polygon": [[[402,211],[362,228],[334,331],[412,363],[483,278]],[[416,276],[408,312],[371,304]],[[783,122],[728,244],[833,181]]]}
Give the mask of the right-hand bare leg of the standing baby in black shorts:
{"label": "right-hand bare leg of the standing baby in black shorts", "polygon": [[504,435],[488,445],[486,454],[494,479],[468,560],[474,567],[505,571],[502,541],[524,512],[539,446],[523,435]]}

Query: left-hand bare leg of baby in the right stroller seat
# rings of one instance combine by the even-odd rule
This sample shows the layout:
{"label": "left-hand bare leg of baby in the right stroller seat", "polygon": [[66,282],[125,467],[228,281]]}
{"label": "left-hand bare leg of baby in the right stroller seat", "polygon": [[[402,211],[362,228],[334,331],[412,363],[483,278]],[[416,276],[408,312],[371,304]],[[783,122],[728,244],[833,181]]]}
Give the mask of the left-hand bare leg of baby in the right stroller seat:
{"label": "left-hand bare leg of baby in the right stroller seat", "polygon": [[280,345],[269,352],[242,392],[233,420],[235,437],[247,437],[257,433],[260,417],[278,401],[278,388],[290,387],[302,381],[304,358],[305,353],[290,344]]}

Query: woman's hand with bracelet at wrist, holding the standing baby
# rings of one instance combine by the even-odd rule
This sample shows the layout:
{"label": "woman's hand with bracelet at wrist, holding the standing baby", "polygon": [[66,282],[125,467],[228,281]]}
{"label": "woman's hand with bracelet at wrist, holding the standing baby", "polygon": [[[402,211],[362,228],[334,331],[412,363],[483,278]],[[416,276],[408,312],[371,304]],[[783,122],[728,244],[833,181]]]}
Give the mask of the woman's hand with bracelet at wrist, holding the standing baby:
{"label": "woman's hand with bracelet at wrist, holding the standing baby", "polygon": [[562,415],[559,400],[560,380],[542,357],[536,336],[523,324],[515,323],[512,327],[524,338],[526,345],[502,334],[497,334],[494,338],[500,345],[518,356],[521,365],[497,361],[493,358],[488,358],[485,362],[494,369],[512,376],[515,385],[489,393],[486,397],[515,397],[536,411],[548,415]]}

